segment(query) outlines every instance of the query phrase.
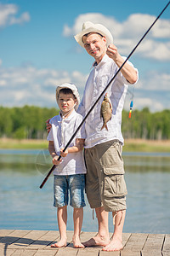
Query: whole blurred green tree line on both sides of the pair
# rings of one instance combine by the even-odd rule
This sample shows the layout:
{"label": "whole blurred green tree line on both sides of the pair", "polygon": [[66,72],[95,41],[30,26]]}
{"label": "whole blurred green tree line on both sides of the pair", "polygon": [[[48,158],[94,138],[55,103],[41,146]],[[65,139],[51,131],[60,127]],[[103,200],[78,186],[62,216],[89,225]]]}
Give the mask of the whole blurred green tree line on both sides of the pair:
{"label": "whole blurred green tree line on both sides of the pair", "polygon": [[[45,139],[45,121],[58,113],[56,108],[0,107],[0,137]],[[128,118],[128,111],[122,112],[122,134],[125,138],[166,140],[170,139],[169,127],[168,109],[156,113],[150,113],[149,108],[134,110],[131,119]]]}

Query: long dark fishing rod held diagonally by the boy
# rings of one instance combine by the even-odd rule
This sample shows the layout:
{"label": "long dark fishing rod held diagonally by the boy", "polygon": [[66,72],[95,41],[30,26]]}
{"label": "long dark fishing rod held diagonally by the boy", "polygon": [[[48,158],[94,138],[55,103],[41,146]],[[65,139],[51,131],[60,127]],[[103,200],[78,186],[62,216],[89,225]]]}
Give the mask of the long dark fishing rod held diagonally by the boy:
{"label": "long dark fishing rod held diagonally by the boy", "polygon": [[[82,119],[82,122],[80,125],[78,125],[77,130],[73,133],[73,135],[71,136],[69,142],[66,144],[65,148],[63,149],[63,152],[65,152],[66,148],[68,148],[68,146],[70,145],[71,141],[73,140],[73,138],[77,135],[77,131],[80,130],[82,124],[85,122],[85,120],[88,118],[88,115],[92,112],[92,110],[94,109],[94,107],[96,106],[96,104],[99,102],[100,98],[104,95],[105,91],[108,89],[108,87],[111,85],[111,82],[116,78],[116,75],[121,71],[122,67],[125,65],[125,63],[128,61],[128,59],[131,57],[131,55],[133,55],[133,52],[135,51],[135,49],[137,49],[137,47],[139,46],[139,44],[143,41],[143,39],[145,38],[145,36],[148,34],[148,32],[150,32],[150,29],[152,28],[152,26],[155,25],[156,21],[160,18],[160,16],[162,15],[162,13],[165,11],[165,9],[167,9],[167,6],[169,5],[170,1],[167,3],[167,5],[165,6],[164,9],[162,9],[160,15],[158,15],[156,17],[156,20],[154,20],[154,22],[151,24],[151,26],[149,27],[149,29],[144,33],[144,36],[139,40],[139,43],[136,44],[136,46],[133,48],[133,50],[131,51],[131,53],[127,56],[127,59],[122,63],[122,66],[119,67],[119,69],[117,70],[116,74],[114,75],[114,77],[111,79],[111,81],[109,82],[109,84],[106,85],[105,89],[101,92],[101,94],[99,95],[98,99],[96,100],[96,102],[94,102],[94,105],[88,110],[88,113],[85,115],[85,117]],[[59,155],[58,160],[61,159],[61,155]],[[52,168],[50,169],[50,171],[48,172],[47,176],[44,178],[44,180],[42,181],[41,185],[40,185],[40,189],[42,189],[43,185],[47,182],[48,177],[51,175],[51,173],[54,171],[55,165],[52,166]]]}

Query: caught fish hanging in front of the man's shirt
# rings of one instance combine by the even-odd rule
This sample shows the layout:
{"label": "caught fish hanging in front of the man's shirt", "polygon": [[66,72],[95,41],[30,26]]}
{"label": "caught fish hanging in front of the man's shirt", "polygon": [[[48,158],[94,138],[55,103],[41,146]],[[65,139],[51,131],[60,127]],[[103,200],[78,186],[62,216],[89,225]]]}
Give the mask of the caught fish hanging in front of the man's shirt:
{"label": "caught fish hanging in front of the man's shirt", "polygon": [[111,100],[108,94],[106,93],[100,108],[100,118],[103,119],[103,126],[101,127],[101,130],[104,129],[105,127],[105,129],[108,131],[107,122],[111,119],[111,113],[112,113]]}

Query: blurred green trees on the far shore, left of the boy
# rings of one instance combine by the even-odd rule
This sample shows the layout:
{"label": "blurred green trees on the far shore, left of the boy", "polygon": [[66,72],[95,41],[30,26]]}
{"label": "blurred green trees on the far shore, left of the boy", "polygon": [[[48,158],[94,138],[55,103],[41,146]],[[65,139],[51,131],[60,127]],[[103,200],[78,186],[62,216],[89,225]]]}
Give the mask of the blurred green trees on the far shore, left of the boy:
{"label": "blurred green trees on the far shore, left of the boy", "polygon": [[58,113],[56,108],[0,107],[0,137],[44,139],[47,137],[45,121]]}

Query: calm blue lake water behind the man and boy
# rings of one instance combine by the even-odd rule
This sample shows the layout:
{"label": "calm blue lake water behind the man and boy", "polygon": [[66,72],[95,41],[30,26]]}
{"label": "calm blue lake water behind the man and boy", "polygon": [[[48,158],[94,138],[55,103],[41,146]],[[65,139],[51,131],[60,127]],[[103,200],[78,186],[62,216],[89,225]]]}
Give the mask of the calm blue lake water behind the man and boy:
{"label": "calm blue lake water behind the man and boy", "polygon": [[[170,233],[170,154],[124,153],[127,215],[123,232]],[[53,207],[52,166],[45,151],[0,150],[0,229],[58,230]],[[68,207],[68,230],[73,230]],[[111,212],[110,232],[113,231]],[[97,231],[97,219],[84,208],[83,231]]]}

